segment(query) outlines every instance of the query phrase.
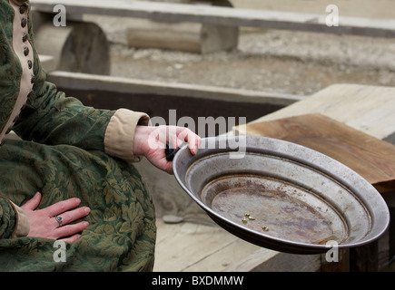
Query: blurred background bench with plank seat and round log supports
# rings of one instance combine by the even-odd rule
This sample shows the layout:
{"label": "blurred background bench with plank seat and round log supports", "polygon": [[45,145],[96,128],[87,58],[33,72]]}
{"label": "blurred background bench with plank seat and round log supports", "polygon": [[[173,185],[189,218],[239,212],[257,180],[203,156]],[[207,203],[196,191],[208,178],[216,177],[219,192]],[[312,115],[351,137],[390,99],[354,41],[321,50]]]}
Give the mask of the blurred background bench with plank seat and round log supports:
{"label": "blurred background bench with plank seat and round log supports", "polygon": [[[207,1],[212,5],[186,2],[32,0],[37,47],[41,53],[54,57],[57,70],[108,74],[110,60],[107,40],[100,26],[84,22],[84,14],[104,14],[143,21],[127,29],[130,46],[195,53],[237,48],[239,27],[395,36],[395,21],[392,19],[341,16],[339,26],[328,26],[326,14],[233,8],[228,0]],[[54,27],[52,18],[55,5],[64,6],[66,27]]]}

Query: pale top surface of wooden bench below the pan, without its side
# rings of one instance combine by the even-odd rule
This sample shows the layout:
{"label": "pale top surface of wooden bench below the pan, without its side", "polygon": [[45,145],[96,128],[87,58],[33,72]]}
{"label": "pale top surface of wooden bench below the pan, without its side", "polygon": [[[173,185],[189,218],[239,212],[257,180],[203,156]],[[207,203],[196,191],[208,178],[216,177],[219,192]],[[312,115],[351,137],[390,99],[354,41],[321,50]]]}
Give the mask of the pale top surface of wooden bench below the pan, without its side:
{"label": "pale top surface of wooden bench below the pan, without its side", "polygon": [[[242,241],[218,226],[165,224],[157,219],[153,271],[222,271],[260,247]],[[238,249],[235,252],[235,249]]]}

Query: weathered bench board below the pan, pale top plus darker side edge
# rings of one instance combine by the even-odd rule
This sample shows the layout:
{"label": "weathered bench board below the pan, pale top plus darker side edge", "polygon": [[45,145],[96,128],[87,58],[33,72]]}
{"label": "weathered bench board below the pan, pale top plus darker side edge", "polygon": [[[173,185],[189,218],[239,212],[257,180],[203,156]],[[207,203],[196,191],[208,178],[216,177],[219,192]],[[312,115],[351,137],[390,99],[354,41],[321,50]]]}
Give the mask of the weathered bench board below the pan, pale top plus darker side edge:
{"label": "weathered bench board below the pan, pale top plus darker side edge", "polygon": [[315,272],[321,255],[294,255],[258,247],[218,226],[157,220],[153,271],[158,272]]}

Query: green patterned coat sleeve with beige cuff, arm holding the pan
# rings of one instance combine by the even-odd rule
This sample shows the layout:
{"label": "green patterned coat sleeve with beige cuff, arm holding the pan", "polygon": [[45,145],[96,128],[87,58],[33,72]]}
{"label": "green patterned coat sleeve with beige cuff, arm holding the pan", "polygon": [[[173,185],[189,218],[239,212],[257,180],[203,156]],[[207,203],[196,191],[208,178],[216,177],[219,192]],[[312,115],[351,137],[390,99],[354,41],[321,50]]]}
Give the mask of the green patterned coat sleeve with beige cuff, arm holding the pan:
{"label": "green patterned coat sleeve with beige cuff, arm holding the pan", "polygon": [[127,109],[94,109],[58,92],[54,83],[46,81],[35,50],[30,19],[28,25],[35,60],[34,86],[13,130],[24,140],[103,150],[126,161],[139,160],[133,156],[134,131],[137,125],[148,125],[149,117]]}

